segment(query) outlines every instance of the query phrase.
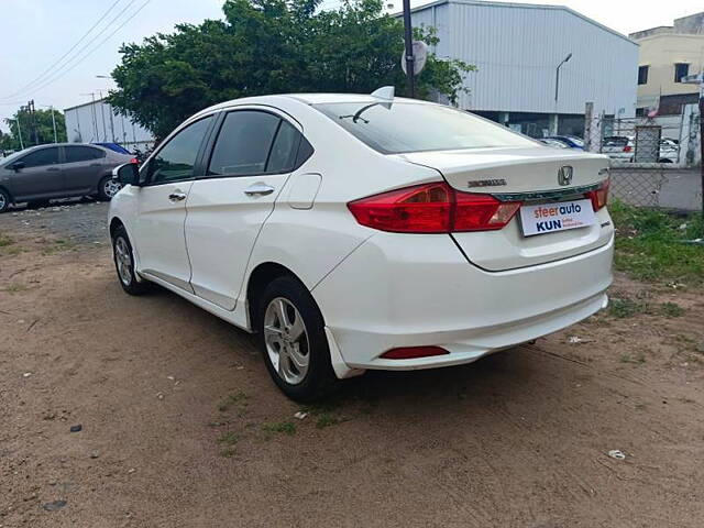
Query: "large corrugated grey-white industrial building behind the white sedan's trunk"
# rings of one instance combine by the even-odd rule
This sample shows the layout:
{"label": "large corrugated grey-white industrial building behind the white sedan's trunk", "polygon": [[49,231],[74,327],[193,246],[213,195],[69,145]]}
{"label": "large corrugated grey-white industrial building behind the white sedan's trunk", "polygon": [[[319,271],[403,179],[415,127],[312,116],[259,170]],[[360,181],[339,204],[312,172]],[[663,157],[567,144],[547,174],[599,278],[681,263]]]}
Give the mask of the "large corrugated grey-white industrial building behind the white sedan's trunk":
{"label": "large corrugated grey-white industrial building behind the white sedan's trunk", "polygon": [[[537,138],[582,135],[587,101],[596,116],[635,116],[638,44],[569,8],[440,0],[413,9],[411,20],[438,30],[438,57],[477,67],[461,109]],[[556,100],[558,65],[570,54]]]}

